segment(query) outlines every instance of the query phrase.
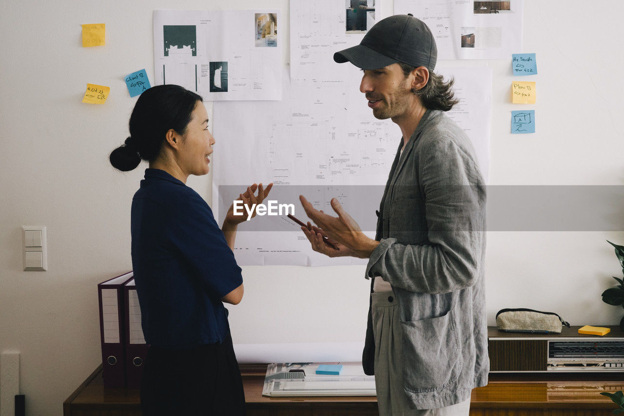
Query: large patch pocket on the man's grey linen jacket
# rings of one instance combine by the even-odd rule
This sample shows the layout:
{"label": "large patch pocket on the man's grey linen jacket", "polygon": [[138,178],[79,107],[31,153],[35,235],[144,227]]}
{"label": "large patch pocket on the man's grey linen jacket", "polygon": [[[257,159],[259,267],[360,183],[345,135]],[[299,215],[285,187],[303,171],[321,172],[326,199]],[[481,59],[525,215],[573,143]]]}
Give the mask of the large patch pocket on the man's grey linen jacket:
{"label": "large patch pocket on the man's grey linen jacket", "polygon": [[401,328],[404,389],[432,392],[457,380],[462,355],[452,310],[440,317],[401,321]]}

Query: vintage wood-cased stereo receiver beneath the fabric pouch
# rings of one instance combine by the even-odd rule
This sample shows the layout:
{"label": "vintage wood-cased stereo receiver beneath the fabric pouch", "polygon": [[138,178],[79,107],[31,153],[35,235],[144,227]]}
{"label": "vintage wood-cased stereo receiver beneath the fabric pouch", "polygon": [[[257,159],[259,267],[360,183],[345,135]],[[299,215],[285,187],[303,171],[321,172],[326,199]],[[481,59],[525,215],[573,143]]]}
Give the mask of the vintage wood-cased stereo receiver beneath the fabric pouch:
{"label": "vintage wood-cased stereo receiver beneath the fabric pouch", "polygon": [[[604,326],[604,325],[603,325]],[[514,334],[488,327],[490,372],[624,372],[624,334],[617,326],[607,335]]]}

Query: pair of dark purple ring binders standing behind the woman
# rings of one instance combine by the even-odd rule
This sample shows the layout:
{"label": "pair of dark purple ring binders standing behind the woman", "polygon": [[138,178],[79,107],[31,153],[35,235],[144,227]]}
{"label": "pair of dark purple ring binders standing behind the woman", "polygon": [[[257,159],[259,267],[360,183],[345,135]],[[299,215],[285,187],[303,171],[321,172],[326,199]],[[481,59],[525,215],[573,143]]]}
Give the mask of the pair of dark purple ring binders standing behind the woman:
{"label": "pair of dark purple ring binders standing behind the woman", "polygon": [[127,272],[97,285],[105,387],[138,389],[147,344],[134,274]]}

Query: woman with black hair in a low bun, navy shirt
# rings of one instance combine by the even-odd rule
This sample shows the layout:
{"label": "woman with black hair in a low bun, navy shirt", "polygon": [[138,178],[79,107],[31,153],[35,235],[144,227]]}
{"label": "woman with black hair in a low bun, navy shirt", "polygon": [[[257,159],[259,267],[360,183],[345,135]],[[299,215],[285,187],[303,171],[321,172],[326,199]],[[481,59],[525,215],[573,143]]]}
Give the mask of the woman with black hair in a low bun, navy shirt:
{"label": "woman with black hair in a low bun, navy shirt", "polygon": [[[223,302],[243,297],[232,248],[246,215],[228,210],[218,228],[208,204],[187,187],[208,173],[215,139],[202,97],[180,86],[143,92],[130,137],[110,154],[120,171],[149,162],[132,199],[132,268],[150,345],[141,384],[145,415],[245,414],[245,395]],[[240,199],[260,204],[262,184]],[[255,195],[254,192],[258,191]]]}

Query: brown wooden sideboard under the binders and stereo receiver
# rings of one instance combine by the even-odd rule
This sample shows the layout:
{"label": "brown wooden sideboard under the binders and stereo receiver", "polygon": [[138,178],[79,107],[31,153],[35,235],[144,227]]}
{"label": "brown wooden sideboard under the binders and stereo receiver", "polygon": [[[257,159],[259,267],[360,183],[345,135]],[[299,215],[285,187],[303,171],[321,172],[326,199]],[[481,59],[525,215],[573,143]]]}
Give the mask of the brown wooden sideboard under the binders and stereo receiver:
{"label": "brown wooden sideboard under the binders and stereo receiver", "polygon": [[[249,416],[377,415],[375,397],[263,397],[266,366],[241,365]],[[472,390],[471,416],[610,415],[602,391],[624,390],[624,374],[490,374]],[[140,416],[139,390],[104,387],[102,366],[63,403],[64,416]]]}

